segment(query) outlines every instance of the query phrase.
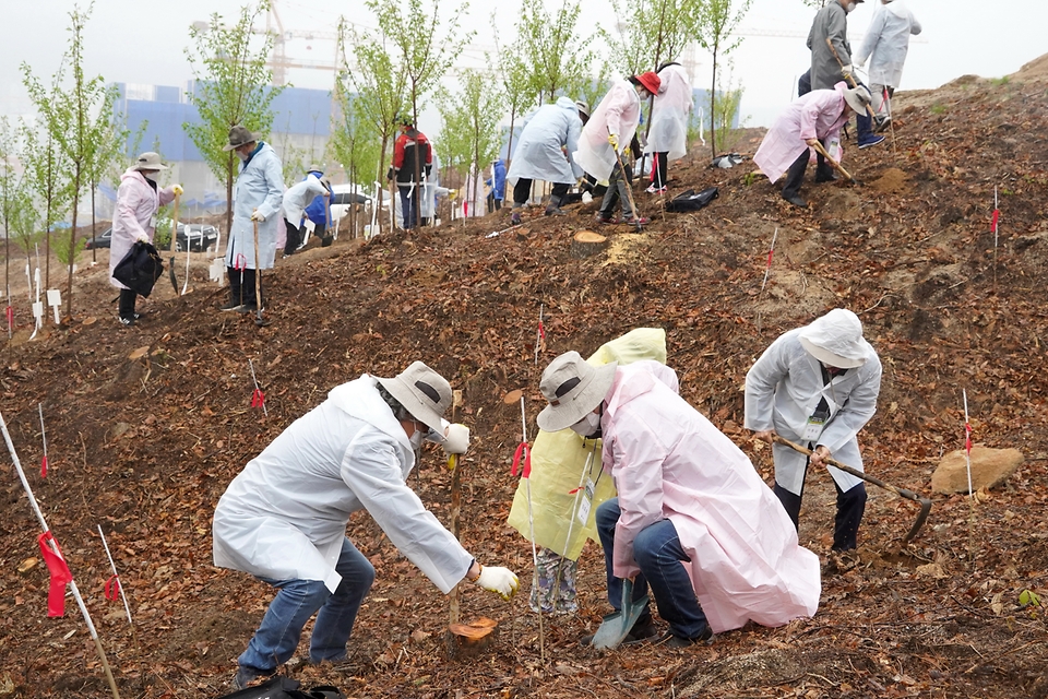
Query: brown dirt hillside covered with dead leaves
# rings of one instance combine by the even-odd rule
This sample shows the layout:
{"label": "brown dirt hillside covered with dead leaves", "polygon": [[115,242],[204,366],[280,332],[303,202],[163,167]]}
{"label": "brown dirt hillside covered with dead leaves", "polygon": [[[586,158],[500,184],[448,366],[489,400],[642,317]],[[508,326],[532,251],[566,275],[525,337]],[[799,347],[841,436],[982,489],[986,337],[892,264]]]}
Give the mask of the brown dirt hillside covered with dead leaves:
{"label": "brown dirt hillside covered with dead leaves", "polygon": [[[162,279],[133,328],[115,319],[102,252],[78,273],[63,325],[48,320],[29,340],[27,310],[17,308],[20,324],[0,351],[0,411],[121,696],[228,691],[272,593],[211,565],[218,497],[331,388],[422,359],[463,390],[474,434],[462,466],[464,545],[517,570],[523,589],[507,604],[466,585],[464,617],[498,620],[499,638],[476,657],[449,661],[446,599],[357,513],[348,534],[378,577],[349,660],[293,661],[286,672],[303,684],[430,699],[1048,697],[1045,615],[1020,601],[1027,590],[1048,600],[1044,66],[898,95],[893,143],[859,152],[845,142],[845,165],[865,186],[817,186],[809,171],[807,211],[782,201],[751,162],[708,168],[707,151],[696,147],[671,167],[670,193],[716,186],[719,198],[693,214],[664,214],[657,198],[639,192],[652,225],[602,227],[611,246],[587,259],[570,257],[569,242],[593,227],[593,204],[570,206],[565,217],[532,210],[523,226],[490,236],[509,226],[503,210],[367,245],[344,236],[283,260],[270,275],[263,328],[217,311],[225,292],[206,281],[202,256],[189,293],[176,296]],[[758,143],[735,150],[752,154]],[[591,544],[579,614],[546,617],[540,635],[526,603],[531,546],[505,525],[520,408],[504,405],[504,394],[524,389],[534,434],[538,379],[552,357],[591,353],[636,327],[664,328],[682,395],[771,483],[767,450],[739,427],[743,377],[779,333],[834,307],[859,315],[884,365],[878,414],[860,436],[869,473],[931,496],[939,458],[964,445],[962,391],[973,439],[1020,449],[1020,471],[977,501],[933,496],[930,519],[906,546],[915,503],[870,486],[860,548],[847,556],[829,550],[832,482],[810,474],[800,538],[823,561],[812,619],[748,626],[684,651],[596,653],[579,645],[608,612],[603,559]],[[540,308],[547,336],[536,364]],[[267,414],[251,406],[249,360]],[[446,522],[451,476],[441,462],[427,451],[410,482]],[[64,618],[46,616],[47,572],[27,560],[39,557],[39,525],[13,467],[5,473],[0,696],[111,696],[72,599]],[[105,597],[111,571],[98,525],[133,629],[122,604]]]}

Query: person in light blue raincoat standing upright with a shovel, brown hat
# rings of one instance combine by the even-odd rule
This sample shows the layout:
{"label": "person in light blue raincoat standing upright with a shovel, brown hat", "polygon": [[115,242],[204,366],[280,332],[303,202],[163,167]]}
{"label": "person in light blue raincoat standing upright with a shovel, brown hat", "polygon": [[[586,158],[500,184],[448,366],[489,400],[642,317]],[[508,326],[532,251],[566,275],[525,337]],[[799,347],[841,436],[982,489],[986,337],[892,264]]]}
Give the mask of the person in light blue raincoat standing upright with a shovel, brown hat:
{"label": "person in light blue raincoat standing upright with a shovel, brown hat", "polygon": [[[253,313],[255,274],[262,286],[262,270],[273,269],[276,238],[284,210],[284,168],[269,143],[241,126],[229,129],[229,143],[223,151],[234,151],[240,158],[240,173],[233,191],[233,229],[226,245],[226,274],[229,300],[221,310]],[[254,224],[259,228],[259,257],[254,256]],[[265,293],[261,289],[262,303]]]}

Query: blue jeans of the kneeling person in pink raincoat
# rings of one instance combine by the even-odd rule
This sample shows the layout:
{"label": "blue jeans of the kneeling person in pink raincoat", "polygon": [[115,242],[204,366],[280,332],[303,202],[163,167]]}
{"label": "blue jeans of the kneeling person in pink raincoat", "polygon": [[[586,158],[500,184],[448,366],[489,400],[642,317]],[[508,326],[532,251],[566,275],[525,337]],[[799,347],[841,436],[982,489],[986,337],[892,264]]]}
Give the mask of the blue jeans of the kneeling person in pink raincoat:
{"label": "blue jeans of the kneeling person in pink raincoat", "polygon": [[[621,510],[619,499],[611,498],[597,507],[594,516],[597,535],[604,546],[604,565],[608,573],[608,602],[619,611],[622,602],[622,580],[612,570],[615,525]],[[696,639],[706,630],[706,615],[695,597],[691,578],[681,562],[690,562],[677,536],[677,528],[669,520],[660,520],[645,528],[633,542],[633,558],[641,573],[633,579],[633,600],[647,594],[648,587],[655,597],[658,615],[669,624],[674,636]],[[645,613],[638,623],[642,623]]]}

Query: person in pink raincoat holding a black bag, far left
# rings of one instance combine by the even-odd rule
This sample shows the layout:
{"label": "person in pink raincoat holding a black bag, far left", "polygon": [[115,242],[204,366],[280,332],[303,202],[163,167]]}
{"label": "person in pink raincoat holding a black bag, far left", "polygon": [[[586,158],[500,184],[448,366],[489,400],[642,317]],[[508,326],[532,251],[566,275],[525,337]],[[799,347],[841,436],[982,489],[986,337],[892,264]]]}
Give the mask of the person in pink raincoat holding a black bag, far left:
{"label": "person in pink raincoat holding a black bag, far left", "polygon": [[[160,189],[156,178],[167,166],[160,164],[156,153],[143,153],[128,171],[120,176],[117,189],[117,206],[112,212],[112,239],[109,244],[109,283],[120,289],[119,319],[124,325],[133,325],[141,316],[134,311],[138,294],[112,276],[131,247],[139,240],[153,242],[156,232],[157,210],[182,193],[182,188],[171,185]],[[175,235],[175,232],[171,232]]]}

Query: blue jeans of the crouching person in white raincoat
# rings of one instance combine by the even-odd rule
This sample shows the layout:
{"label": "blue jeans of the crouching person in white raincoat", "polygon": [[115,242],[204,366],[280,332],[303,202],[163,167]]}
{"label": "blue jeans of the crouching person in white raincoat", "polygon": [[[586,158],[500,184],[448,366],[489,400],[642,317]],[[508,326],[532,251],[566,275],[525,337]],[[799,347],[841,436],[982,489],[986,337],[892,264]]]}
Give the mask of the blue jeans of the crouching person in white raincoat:
{"label": "blue jeans of the crouching person in white raincoat", "polygon": [[279,592],[265,611],[248,650],[238,659],[241,667],[259,675],[272,674],[295,654],[302,627],[313,614],[317,614],[317,623],[309,642],[309,662],[346,657],[346,643],[357,611],[374,582],[374,567],[345,538],[335,570],[342,576],[342,582],[334,593],[320,580],[260,578]]}

